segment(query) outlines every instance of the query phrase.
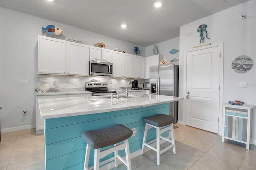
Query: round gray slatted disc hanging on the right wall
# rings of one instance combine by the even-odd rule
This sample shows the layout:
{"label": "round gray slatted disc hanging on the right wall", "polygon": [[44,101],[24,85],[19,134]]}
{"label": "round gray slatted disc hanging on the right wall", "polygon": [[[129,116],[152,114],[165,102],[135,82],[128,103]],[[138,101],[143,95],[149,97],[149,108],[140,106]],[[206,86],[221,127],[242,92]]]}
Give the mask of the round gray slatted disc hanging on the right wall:
{"label": "round gray slatted disc hanging on the right wall", "polygon": [[232,69],[234,69],[236,73],[246,73],[252,68],[252,65],[252,59],[247,55],[240,55],[232,61]]}

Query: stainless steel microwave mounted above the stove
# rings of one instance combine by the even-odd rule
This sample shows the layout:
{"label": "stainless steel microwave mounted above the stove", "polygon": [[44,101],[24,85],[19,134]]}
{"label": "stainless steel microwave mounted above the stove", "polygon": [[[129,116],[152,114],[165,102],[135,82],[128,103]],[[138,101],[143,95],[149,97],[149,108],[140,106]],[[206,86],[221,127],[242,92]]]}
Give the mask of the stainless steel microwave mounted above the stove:
{"label": "stainless steel microwave mounted above the stove", "polygon": [[112,63],[90,60],[90,75],[112,76]]}

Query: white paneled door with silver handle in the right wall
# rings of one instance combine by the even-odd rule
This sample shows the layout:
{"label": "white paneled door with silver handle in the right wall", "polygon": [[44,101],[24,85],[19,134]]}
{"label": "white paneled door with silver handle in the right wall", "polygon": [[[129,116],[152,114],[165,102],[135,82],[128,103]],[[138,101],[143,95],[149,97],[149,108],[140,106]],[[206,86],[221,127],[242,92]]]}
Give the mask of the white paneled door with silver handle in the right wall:
{"label": "white paneled door with silver handle in the right wall", "polygon": [[218,133],[220,47],[187,53],[186,125]]}

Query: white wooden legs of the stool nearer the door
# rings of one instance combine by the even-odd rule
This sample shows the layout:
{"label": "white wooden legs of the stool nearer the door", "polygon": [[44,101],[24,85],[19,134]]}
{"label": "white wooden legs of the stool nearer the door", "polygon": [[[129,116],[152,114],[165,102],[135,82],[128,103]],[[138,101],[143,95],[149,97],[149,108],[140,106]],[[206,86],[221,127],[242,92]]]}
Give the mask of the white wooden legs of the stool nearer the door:
{"label": "white wooden legs of the stool nearer the door", "polygon": [[[156,139],[146,143],[146,137],[147,137],[148,129],[150,129],[152,127],[156,128]],[[168,138],[165,138],[165,137],[161,136],[161,134],[163,132],[165,132],[166,130],[169,130]],[[166,140],[167,142],[170,142],[171,145],[168,146],[167,148],[164,148],[163,150],[160,150],[161,139]],[[154,148],[153,146],[150,146],[150,144],[152,144],[154,142],[156,142],[156,148]],[[160,155],[162,153],[166,152],[170,148],[173,148],[173,153],[176,154],[176,145],[175,145],[175,140],[174,140],[173,124],[170,124],[167,127],[161,128],[161,127],[156,127],[156,126],[153,126],[153,125],[150,125],[150,124],[146,123],[143,142],[142,142],[142,149],[141,149],[141,154],[142,155],[144,154],[144,147],[145,146],[147,146],[148,148],[156,151],[156,164],[158,166],[160,165]]]}

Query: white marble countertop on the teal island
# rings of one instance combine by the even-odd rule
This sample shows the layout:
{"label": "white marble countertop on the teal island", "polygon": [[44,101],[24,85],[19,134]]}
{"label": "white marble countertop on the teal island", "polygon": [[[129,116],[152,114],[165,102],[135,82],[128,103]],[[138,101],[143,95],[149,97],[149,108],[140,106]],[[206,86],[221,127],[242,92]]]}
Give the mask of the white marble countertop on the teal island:
{"label": "white marble countertop on the teal island", "polygon": [[41,119],[69,117],[134,109],[182,100],[183,97],[164,95],[129,95],[128,98],[106,99],[104,97],[66,97],[38,99]]}

